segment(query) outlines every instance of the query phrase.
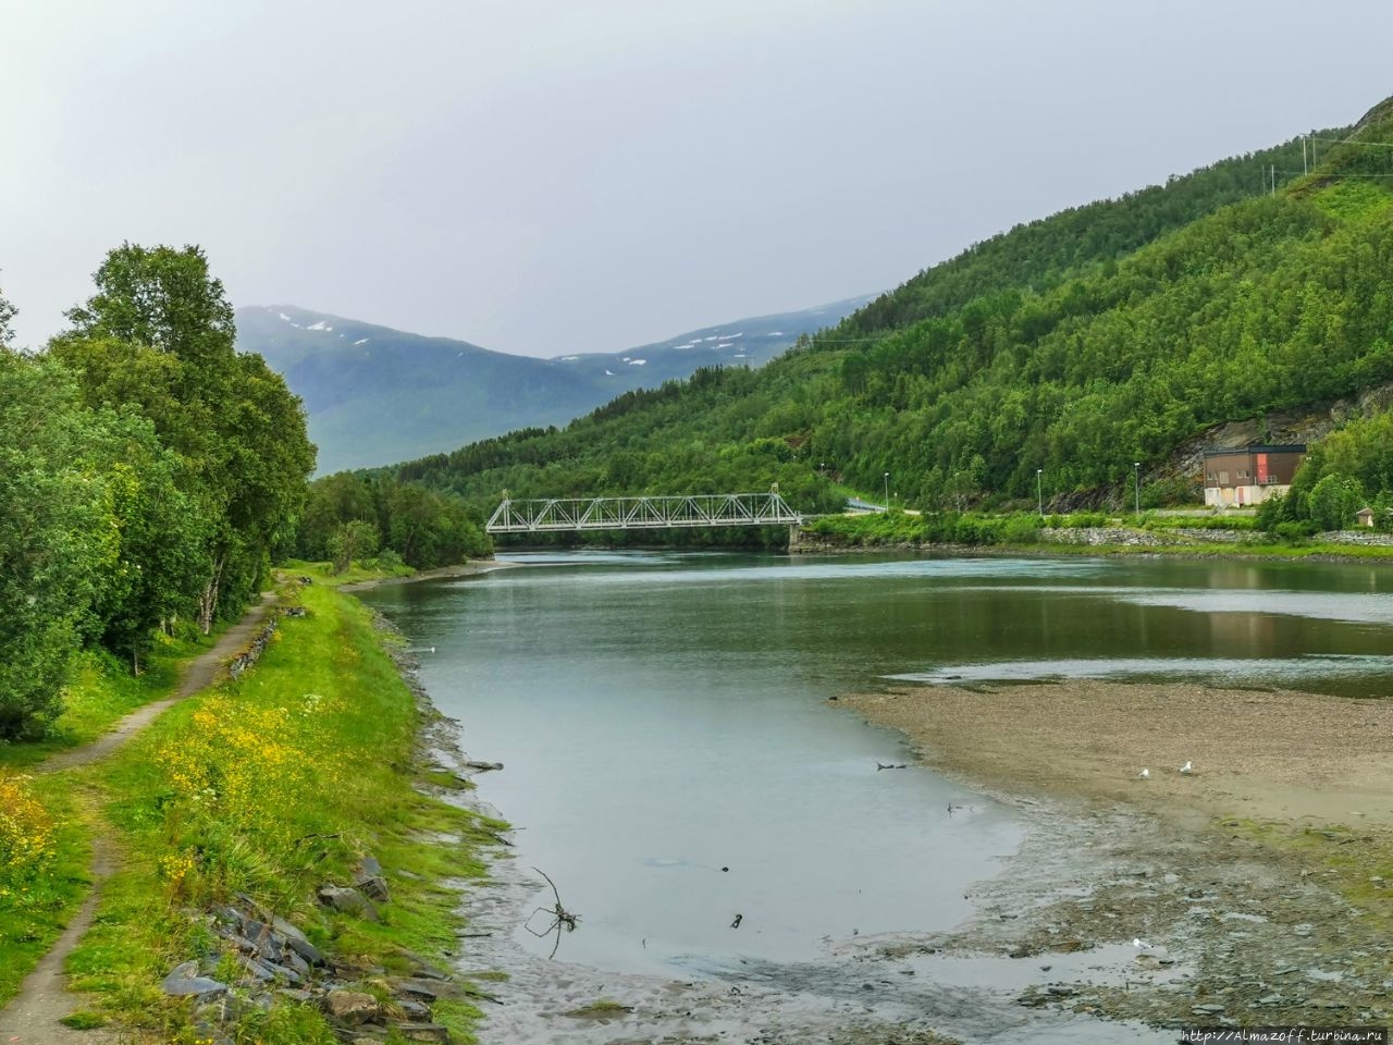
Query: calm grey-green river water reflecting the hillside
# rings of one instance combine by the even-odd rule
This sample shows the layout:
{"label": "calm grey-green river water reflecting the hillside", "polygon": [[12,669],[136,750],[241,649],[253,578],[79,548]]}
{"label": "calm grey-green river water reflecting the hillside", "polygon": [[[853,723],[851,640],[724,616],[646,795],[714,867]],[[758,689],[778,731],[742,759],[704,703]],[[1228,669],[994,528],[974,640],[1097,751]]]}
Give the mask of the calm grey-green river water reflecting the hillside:
{"label": "calm grey-green river water reflecting the hillside", "polygon": [[432,698],[471,757],[504,762],[479,793],[582,917],[560,957],[621,973],[808,960],[968,915],[1024,825],[926,769],[878,769],[908,751],[829,697],[1078,676],[1393,692],[1376,566],[506,557],[527,568],[364,598],[435,647]]}

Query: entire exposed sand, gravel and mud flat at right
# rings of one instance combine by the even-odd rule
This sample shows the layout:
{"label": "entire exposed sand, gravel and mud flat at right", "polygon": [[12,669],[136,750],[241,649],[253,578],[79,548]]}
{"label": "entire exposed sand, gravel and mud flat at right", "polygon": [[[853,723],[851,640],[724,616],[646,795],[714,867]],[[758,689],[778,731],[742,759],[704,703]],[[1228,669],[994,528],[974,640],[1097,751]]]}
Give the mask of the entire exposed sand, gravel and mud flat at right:
{"label": "entire exposed sand, gravel and mud flat at right", "polygon": [[[1018,959],[1039,970],[1021,1006],[1156,1027],[1389,1023],[1393,706],[1092,680],[834,706],[896,729],[918,761],[1029,825],[974,888],[976,914],[910,953]],[[1050,981],[1075,952],[1099,954],[1092,967],[1121,988],[1103,971]]]}

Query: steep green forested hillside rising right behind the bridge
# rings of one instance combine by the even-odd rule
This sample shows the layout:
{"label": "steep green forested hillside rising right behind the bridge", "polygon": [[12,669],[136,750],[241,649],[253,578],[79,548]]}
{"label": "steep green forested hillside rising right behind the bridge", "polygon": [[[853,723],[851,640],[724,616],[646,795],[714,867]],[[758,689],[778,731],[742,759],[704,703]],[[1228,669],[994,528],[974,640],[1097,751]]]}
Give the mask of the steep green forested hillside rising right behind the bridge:
{"label": "steep green forested hillside rising right behind the bridge", "polygon": [[1393,378],[1390,135],[1380,106],[1312,135],[1309,174],[1294,139],[1014,229],[758,373],[398,475],[481,503],[777,481],[805,510],[836,503],[830,477],[871,492],[885,472],[926,509],[1117,486],[1217,422]]}

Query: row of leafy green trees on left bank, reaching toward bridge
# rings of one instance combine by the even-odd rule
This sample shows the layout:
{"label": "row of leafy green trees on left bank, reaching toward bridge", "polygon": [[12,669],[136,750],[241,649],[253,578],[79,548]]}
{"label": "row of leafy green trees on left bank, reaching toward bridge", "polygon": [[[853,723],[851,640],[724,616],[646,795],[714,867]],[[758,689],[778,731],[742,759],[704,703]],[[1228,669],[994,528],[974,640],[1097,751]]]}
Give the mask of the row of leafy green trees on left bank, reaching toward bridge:
{"label": "row of leafy green trees on left bank, reaching toward bridge", "polygon": [[196,247],[123,244],[39,353],[13,347],[0,295],[0,743],[42,736],[81,651],[139,673],[160,635],[208,634],[273,559],[486,555],[454,499],[391,479],[330,522],[311,495],[305,412]]}

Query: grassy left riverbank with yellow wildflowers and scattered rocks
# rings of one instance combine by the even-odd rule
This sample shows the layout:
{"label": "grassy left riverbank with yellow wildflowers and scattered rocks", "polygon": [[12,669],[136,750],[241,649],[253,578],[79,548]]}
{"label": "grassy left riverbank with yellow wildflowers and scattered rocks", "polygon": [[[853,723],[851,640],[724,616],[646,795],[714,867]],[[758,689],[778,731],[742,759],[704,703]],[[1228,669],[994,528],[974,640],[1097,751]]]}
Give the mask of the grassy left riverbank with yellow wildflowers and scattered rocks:
{"label": "grassy left riverbank with yellow wildflowers and scattered rocks", "polygon": [[[481,874],[479,847],[500,825],[446,803],[440,784],[451,777],[430,773],[433,783],[423,783],[419,734],[430,712],[368,610],[322,584],[294,585],[291,598],[305,616],[281,619],[240,680],[176,705],[104,762],[8,777],[31,800],[31,833],[46,839],[29,886],[33,896],[61,895],[50,903],[54,924],[81,900],[89,832],[117,851],[96,924],[67,964],[71,986],[88,995],[79,1023],[114,1021],[138,1041],[201,1037],[189,1002],[166,996],[160,981],[187,960],[238,981],[238,959],[206,917],[228,901],[297,925],[329,957],[337,984],[379,998],[389,1013],[393,975],[422,960],[450,964],[460,927],[458,888],[449,882]],[[380,862],[390,886],[380,921],[316,904],[318,888],[351,883],[365,857]],[[0,907],[6,917],[15,910]],[[53,934],[40,927],[26,950],[24,929],[0,918],[0,968],[18,971],[0,989],[13,995]],[[478,1012],[447,993],[432,1016],[471,1041]],[[306,999],[277,993],[267,1006],[269,989],[234,985],[238,995],[251,1002],[234,1006],[235,1041],[336,1041]]]}

